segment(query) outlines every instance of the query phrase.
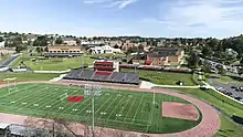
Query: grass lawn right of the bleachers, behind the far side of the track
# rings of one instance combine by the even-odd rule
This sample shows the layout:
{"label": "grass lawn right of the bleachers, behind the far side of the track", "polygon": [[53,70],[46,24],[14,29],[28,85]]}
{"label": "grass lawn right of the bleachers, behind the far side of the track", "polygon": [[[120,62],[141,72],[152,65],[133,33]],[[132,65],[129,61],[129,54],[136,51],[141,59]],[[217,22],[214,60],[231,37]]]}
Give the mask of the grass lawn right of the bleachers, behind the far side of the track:
{"label": "grass lawn right of the bleachers, behind the far side of the track", "polygon": [[[134,72],[133,68],[123,68],[122,72]],[[158,71],[145,71],[136,70],[141,80],[149,81],[160,85],[176,85],[178,81],[184,82],[184,85],[197,85],[193,82],[192,74],[186,73],[172,73],[172,72],[158,72]]]}

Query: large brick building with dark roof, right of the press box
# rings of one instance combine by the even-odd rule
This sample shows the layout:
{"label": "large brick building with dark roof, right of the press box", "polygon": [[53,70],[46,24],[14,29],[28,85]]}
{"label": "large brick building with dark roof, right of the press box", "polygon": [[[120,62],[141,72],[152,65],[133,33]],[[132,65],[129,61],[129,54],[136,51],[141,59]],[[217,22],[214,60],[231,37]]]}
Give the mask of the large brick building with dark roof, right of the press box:
{"label": "large brick building with dark roof, right of the press box", "polygon": [[147,65],[170,65],[179,63],[183,57],[184,51],[181,49],[157,48],[147,54]]}

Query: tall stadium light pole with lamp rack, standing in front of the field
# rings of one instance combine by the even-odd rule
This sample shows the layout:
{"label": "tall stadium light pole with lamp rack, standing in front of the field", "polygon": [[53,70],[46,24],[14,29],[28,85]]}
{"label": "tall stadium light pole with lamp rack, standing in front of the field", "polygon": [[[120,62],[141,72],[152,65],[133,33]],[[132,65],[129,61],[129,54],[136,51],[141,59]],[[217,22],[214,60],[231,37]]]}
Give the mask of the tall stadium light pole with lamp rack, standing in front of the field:
{"label": "tall stadium light pole with lamp rack, standing in front of the field", "polygon": [[92,97],[92,134],[95,137],[95,96],[102,95],[101,86],[97,84],[85,84],[84,85],[84,95]]}

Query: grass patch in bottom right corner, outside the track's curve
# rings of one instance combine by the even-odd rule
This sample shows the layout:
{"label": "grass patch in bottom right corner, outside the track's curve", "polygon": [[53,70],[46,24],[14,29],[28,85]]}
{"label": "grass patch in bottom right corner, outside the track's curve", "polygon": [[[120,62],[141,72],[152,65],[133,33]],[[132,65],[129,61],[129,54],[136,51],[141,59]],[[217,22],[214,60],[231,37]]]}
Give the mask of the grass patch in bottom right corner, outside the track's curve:
{"label": "grass patch in bottom right corner, outside the track's curve", "polygon": [[221,128],[214,137],[242,137],[243,128],[220,115]]}

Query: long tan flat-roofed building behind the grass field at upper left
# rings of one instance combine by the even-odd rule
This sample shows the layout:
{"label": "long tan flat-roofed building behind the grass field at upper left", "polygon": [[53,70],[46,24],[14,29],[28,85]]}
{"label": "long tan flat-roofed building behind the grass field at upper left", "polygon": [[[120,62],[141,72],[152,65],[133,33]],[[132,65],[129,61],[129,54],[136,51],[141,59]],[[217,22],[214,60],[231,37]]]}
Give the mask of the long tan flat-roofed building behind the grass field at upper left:
{"label": "long tan flat-roofed building behind the grass field at upper left", "polygon": [[81,46],[74,45],[51,45],[47,46],[47,52],[44,53],[45,57],[73,57],[81,56],[84,52]]}

